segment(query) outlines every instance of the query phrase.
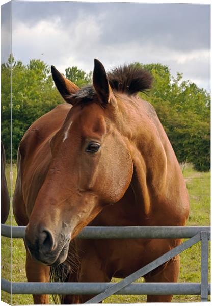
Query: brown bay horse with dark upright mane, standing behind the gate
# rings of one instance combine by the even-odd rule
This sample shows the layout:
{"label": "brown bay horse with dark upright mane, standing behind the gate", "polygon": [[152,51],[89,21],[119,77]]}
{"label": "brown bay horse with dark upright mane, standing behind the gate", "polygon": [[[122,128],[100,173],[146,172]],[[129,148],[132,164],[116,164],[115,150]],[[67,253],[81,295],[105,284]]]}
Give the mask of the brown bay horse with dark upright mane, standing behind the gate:
{"label": "brown bay horse with dark upright mane, standing behind the gate", "polygon": [[[26,276],[48,282],[51,266],[70,262],[68,282],[124,278],[182,239],[75,239],[87,226],[185,225],[189,199],[170,141],[154,108],[138,96],[152,86],[149,72],[133,65],[109,73],[94,60],[93,85],[79,89],[54,66],[64,98],[36,120],[18,149],[13,212],[25,232]],[[179,256],[144,276],[146,282],[176,282]],[[34,295],[47,304],[48,295]],[[92,295],[66,295],[83,303]],[[171,295],[148,295],[169,302]]]}

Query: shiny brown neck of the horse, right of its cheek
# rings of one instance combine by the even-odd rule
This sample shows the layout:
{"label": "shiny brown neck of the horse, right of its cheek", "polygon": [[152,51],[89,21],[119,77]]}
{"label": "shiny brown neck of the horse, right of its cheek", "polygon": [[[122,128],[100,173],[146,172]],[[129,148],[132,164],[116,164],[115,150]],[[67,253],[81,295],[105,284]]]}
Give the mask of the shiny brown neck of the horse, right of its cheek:
{"label": "shiny brown neck of the horse, right of its cheek", "polygon": [[[125,96],[124,96],[125,99]],[[145,213],[188,206],[188,195],[178,161],[153,107],[140,98],[119,104],[117,128],[127,141],[133,161],[131,187]],[[170,203],[170,204],[169,204]],[[184,204],[182,204],[184,203]],[[186,203],[186,204],[185,204]]]}

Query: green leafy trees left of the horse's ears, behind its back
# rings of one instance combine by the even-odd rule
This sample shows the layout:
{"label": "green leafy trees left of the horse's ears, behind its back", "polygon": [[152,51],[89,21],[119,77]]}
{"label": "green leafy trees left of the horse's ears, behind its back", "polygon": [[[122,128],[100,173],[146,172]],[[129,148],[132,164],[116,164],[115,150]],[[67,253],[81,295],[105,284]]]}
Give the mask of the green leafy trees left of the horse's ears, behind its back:
{"label": "green leafy trees left of the horse's ears, behind its back", "polygon": [[50,68],[40,60],[28,65],[13,57],[2,64],[2,140],[6,158],[10,154],[11,120],[11,69],[12,69],[12,143],[13,162],[19,142],[28,127],[40,116],[63,102],[50,74]]}

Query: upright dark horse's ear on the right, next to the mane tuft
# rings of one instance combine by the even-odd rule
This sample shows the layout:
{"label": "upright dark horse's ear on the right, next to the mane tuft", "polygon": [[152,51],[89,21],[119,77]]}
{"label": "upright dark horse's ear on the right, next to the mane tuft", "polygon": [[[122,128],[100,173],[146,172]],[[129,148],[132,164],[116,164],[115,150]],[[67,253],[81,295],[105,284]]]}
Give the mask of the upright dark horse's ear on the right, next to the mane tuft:
{"label": "upright dark horse's ear on the right, next to the mane tuft", "polygon": [[109,85],[105,68],[97,59],[94,59],[93,85],[101,104],[107,105],[108,103],[116,101],[111,86]]}

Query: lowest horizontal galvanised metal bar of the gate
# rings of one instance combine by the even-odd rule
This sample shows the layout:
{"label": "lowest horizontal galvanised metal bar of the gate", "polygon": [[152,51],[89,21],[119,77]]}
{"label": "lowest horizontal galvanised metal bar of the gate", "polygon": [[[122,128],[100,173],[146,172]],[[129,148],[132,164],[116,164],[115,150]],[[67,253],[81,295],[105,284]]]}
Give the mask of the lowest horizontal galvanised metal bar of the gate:
{"label": "lowest horizontal galvanised metal bar of the gate", "polygon": [[[115,283],[13,283],[13,294],[98,294]],[[11,293],[11,283],[2,278],[2,290]],[[200,295],[200,283],[134,283],[117,294]],[[210,284],[208,284],[210,294]]]}

